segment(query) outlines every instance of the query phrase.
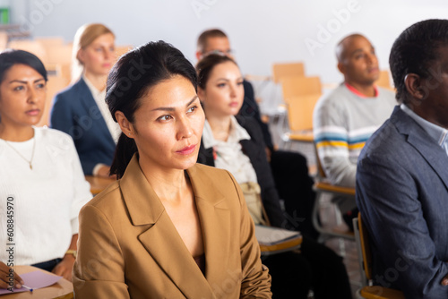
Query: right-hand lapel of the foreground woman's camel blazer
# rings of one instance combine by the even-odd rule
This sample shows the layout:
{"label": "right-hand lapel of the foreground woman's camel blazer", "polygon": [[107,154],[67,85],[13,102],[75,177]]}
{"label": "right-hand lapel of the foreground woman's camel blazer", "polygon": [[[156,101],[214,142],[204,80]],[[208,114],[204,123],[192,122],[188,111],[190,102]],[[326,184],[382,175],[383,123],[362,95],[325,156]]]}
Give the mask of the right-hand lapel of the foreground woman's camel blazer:
{"label": "right-hand lapel of the foreground woman's camel blazer", "polygon": [[224,269],[228,268],[230,239],[230,211],[225,197],[209,182],[198,175],[198,167],[187,170],[194,190],[196,207],[201,219],[202,238],[205,252],[205,276],[211,286],[228,278]]}

